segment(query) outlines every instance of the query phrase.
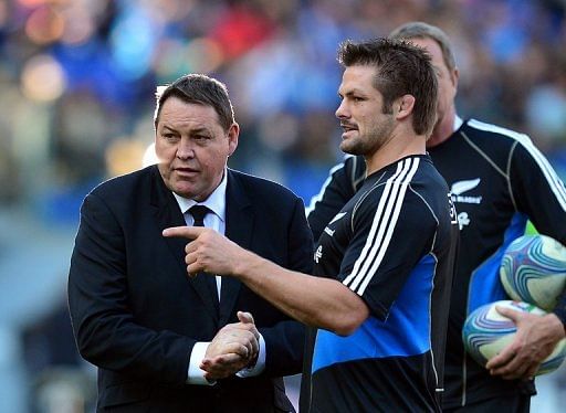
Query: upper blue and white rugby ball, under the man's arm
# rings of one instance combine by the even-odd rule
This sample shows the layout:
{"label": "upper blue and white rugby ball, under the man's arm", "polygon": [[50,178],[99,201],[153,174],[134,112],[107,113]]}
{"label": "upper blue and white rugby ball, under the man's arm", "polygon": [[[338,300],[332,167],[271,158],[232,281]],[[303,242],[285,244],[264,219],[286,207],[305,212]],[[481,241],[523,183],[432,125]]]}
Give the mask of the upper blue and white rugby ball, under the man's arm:
{"label": "upper blue and white rugby ball, under the man's arm", "polygon": [[566,247],[546,235],[523,235],[513,241],[500,266],[509,296],[552,311],[566,284]]}

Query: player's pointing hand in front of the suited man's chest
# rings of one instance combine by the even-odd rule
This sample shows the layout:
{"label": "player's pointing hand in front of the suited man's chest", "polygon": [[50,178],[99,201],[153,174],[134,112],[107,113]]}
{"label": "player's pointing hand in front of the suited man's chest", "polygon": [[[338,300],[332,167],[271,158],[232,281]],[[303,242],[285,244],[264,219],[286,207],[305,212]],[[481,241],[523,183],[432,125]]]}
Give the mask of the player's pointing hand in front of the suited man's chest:
{"label": "player's pointing hand in front of the suited man's chest", "polygon": [[187,273],[193,276],[199,272],[232,275],[242,255],[247,252],[214,230],[201,226],[175,226],[163,232],[164,236],[181,236],[192,240],[185,247]]}

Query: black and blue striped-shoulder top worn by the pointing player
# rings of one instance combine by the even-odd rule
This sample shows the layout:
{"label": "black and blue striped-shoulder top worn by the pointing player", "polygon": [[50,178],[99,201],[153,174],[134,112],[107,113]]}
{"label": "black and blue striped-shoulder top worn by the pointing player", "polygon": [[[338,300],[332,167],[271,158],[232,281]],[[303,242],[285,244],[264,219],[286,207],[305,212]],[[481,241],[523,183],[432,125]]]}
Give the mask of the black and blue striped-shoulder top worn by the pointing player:
{"label": "black and blue striped-shoulder top worn by the pointing player", "polygon": [[358,294],[370,317],[350,336],[318,330],[313,412],[440,411],[455,211],[428,156],[368,177],[325,226],[315,275]]}

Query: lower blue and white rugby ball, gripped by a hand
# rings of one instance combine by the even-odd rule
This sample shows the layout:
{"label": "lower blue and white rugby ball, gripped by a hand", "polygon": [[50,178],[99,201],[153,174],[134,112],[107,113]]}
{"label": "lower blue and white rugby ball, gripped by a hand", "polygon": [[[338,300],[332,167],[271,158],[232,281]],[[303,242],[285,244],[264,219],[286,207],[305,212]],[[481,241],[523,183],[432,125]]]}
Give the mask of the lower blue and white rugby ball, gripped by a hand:
{"label": "lower blue and white rugby ball, gripped by a hand", "polygon": [[[522,301],[501,300],[476,308],[465,320],[462,339],[468,353],[481,366],[510,345],[516,332],[515,324],[502,316],[495,306],[507,307],[517,311],[544,316],[546,311]],[[535,375],[546,374],[556,370],[566,357],[566,339],[562,339],[548,356]]]}

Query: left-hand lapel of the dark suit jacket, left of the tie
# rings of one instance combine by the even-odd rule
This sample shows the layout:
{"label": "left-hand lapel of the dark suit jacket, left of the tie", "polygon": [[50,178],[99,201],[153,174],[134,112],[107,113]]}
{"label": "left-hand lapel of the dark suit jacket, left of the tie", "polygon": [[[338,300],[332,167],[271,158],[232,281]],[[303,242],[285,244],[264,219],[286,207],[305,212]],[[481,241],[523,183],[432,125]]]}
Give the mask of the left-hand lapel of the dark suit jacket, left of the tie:
{"label": "left-hand lapel of the dark suit jacket, left of the tie", "polygon": [[[187,223],[185,222],[185,218],[182,216],[182,213],[179,209],[179,204],[175,200],[171,191],[165,187],[157,167],[154,170],[153,183],[154,188],[151,191],[150,203],[155,209],[159,233],[169,226],[186,225]],[[188,240],[180,237],[164,237],[164,241],[175,256],[175,261],[178,264],[177,268],[180,271],[180,276],[182,276],[187,283],[189,283],[189,285],[195,288],[198,296],[205,304],[207,310],[212,316],[212,319],[218,325],[218,310],[216,309],[214,301],[210,296],[210,289],[207,286],[205,276],[198,275],[193,278],[189,278],[187,276],[187,265],[185,264],[185,246],[187,245]]]}

